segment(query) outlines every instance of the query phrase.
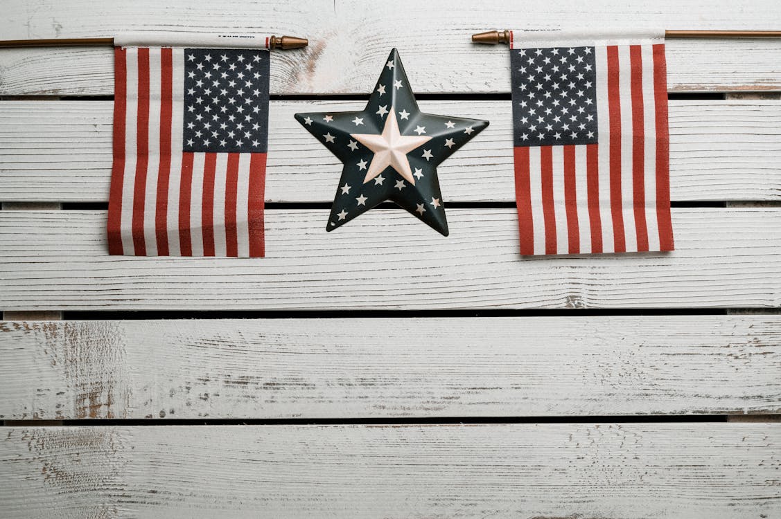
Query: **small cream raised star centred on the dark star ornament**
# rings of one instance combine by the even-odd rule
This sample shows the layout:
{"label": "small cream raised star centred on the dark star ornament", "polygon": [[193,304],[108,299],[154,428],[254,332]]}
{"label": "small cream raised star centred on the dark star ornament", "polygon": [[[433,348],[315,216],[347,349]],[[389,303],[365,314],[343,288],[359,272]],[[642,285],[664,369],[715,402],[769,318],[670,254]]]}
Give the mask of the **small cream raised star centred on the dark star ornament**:
{"label": "small cream raised star centred on the dark star ornament", "polygon": [[431,140],[431,137],[401,135],[398,131],[398,121],[394,110],[391,110],[391,114],[385,119],[385,127],[380,135],[351,133],[350,136],[374,152],[372,163],[369,164],[369,171],[366,172],[363,183],[369,182],[385,168],[391,166],[402,178],[408,180],[413,186],[415,185],[415,178],[412,176],[407,154],[426,144]]}

